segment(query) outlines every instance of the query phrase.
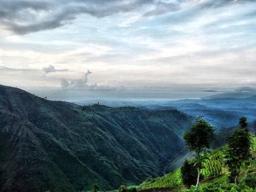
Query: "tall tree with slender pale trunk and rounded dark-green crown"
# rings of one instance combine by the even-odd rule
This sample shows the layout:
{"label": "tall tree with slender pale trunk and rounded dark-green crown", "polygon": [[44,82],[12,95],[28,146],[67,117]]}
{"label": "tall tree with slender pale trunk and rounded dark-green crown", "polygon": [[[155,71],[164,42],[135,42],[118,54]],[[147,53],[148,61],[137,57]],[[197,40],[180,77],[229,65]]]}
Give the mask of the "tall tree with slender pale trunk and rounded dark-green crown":
{"label": "tall tree with slender pale trunk and rounded dark-green crown", "polygon": [[189,150],[195,152],[195,165],[197,166],[197,182],[196,188],[200,179],[200,168],[202,162],[206,158],[205,154],[207,149],[210,148],[211,143],[214,141],[216,134],[214,131],[217,129],[209,122],[203,119],[204,116],[198,116],[196,121],[190,127],[190,130],[185,131],[183,139],[186,146],[189,146]]}

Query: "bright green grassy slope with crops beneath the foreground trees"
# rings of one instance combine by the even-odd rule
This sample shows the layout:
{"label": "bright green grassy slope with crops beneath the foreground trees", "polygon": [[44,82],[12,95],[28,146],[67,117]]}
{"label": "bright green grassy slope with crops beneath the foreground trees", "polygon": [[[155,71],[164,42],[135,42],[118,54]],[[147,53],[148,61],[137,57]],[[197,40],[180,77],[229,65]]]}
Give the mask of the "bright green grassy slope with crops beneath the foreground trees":
{"label": "bright green grassy slope with crops beneath the foreground trees", "polygon": [[228,182],[230,173],[222,158],[222,147],[211,152],[204,162],[202,180],[197,190],[194,186],[182,184],[180,168],[162,177],[149,178],[139,186],[129,186],[128,189],[142,192],[256,192],[256,137],[252,138],[252,143],[252,160],[244,164],[237,185]]}

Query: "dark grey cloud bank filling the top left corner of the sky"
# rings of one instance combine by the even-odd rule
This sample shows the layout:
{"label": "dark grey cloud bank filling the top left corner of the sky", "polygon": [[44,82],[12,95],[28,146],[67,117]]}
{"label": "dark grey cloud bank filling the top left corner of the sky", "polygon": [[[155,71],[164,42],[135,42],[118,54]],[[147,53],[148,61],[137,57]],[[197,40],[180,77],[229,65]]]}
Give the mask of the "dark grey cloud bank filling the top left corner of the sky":
{"label": "dark grey cloud bank filling the top left corner of the sky", "polygon": [[[76,19],[78,14],[90,14],[102,18],[120,12],[130,12],[153,0],[60,0],[60,1],[19,1],[0,2],[0,24],[16,34],[28,34],[63,26]],[[33,11],[31,11],[33,10]],[[39,18],[38,13],[44,13]]]}

